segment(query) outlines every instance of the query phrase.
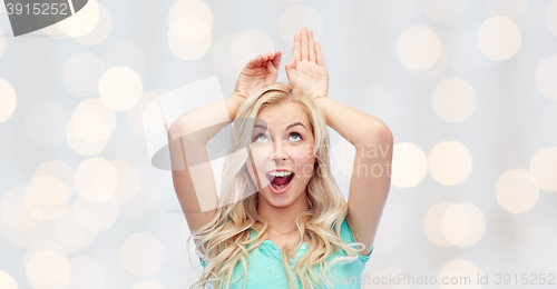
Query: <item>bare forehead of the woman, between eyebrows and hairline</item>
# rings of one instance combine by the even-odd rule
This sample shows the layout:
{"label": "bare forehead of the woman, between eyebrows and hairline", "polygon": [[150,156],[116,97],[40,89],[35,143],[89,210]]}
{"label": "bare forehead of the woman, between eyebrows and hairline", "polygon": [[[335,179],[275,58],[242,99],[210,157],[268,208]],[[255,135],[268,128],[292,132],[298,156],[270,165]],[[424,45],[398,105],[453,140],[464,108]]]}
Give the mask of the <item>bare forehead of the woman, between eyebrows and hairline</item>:
{"label": "bare forehead of the woman, between eyebrows and hairline", "polygon": [[306,128],[310,128],[307,113],[292,101],[264,107],[257,113],[257,119],[265,121],[271,128],[284,129],[293,122],[302,122]]}

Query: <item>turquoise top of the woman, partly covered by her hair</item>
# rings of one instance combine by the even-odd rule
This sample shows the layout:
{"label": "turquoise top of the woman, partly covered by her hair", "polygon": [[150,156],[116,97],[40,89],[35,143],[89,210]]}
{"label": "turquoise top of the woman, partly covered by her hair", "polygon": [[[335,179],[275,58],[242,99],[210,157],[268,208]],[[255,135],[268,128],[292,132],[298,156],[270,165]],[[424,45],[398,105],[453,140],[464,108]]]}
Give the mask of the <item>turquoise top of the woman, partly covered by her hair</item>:
{"label": "turquoise top of the woman, partly covered by her hair", "polygon": [[[252,229],[251,239],[253,239],[256,235],[257,232]],[[354,238],[352,237],[352,231],[350,230],[346,223],[346,219],[343,220],[341,226],[341,239],[345,243],[354,242]],[[291,262],[292,276],[294,277],[296,288],[302,288],[302,282],[299,280],[294,271],[294,265],[300,259],[300,257],[302,257],[305,253],[305,251],[307,251],[307,249],[309,249],[307,243],[303,242],[297,249],[296,256],[294,257],[293,261]],[[360,275],[362,273],[363,268],[365,267],[365,262],[370,259],[373,247],[371,248],[370,255],[368,256],[362,256],[358,253],[358,259],[353,260],[350,263],[343,263],[342,261],[334,263],[332,270],[334,269],[333,273],[336,275],[326,278],[329,283],[332,285],[332,288],[360,289],[361,283],[365,281],[365,279],[363,280],[361,279]],[[333,258],[339,256],[348,256],[348,255],[346,252],[344,252],[344,250],[340,249],[336,252],[329,256],[328,262],[330,262]],[[278,247],[276,247],[276,245],[272,240],[264,240],[258,248],[255,248],[253,251],[251,251],[250,267],[247,268],[247,282],[245,289],[290,288],[289,277],[284,271],[284,266],[282,265],[281,258],[282,258],[281,249],[278,249]],[[202,262],[203,268],[205,269],[207,265],[201,258],[199,260]],[[319,272],[319,268],[316,270]],[[243,272],[244,272],[244,266],[242,265],[241,261],[238,261],[234,267],[232,281],[238,279]],[[242,289],[244,287],[244,278],[245,276],[243,276],[237,281],[232,282],[228,288]],[[208,285],[208,288],[211,288],[211,285]],[[226,286],[224,286],[224,288],[226,288]],[[328,288],[328,287],[325,285],[322,285],[321,288]]]}

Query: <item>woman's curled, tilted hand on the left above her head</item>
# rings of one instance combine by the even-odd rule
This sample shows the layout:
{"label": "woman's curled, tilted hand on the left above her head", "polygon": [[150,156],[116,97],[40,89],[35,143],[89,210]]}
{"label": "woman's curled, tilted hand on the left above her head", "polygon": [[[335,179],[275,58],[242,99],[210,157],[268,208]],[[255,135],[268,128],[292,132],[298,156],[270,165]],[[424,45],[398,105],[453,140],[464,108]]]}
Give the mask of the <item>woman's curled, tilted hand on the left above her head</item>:
{"label": "woman's curled, tilted hand on the left above her head", "polygon": [[277,50],[275,53],[267,52],[250,60],[240,73],[233,94],[245,100],[253,91],[276,82],[282,52]]}

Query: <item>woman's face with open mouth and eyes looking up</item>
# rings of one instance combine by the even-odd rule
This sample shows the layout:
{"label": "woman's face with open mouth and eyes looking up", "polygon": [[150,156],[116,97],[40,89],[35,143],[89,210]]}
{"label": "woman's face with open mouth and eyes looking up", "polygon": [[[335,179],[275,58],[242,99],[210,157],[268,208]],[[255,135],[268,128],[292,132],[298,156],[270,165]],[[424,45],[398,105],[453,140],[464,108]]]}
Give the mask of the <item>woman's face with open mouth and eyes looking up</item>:
{"label": "woman's face with open mouth and eyes looking up", "polygon": [[[306,186],[315,162],[314,138],[305,111],[291,101],[263,108],[257,114],[251,139],[251,155],[246,165],[253,182],[260,190],[260,206],[289,207],[306,203]],[[287,170],[293,177],[268,175]],[[289,181],[290,179],[290,181]],[[281,181],[283,190],[272,189]],[[258,182],[257,182],[258,181]]]}

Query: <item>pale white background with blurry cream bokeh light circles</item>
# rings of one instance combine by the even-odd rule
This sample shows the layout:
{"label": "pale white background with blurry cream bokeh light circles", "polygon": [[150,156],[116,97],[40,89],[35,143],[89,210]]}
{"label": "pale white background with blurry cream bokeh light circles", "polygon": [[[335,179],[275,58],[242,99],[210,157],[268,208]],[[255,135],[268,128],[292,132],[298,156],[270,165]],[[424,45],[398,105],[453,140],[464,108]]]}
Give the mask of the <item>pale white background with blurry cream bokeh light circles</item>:
{"label": "pale white background with blurry cream bokeh light circles", "polygon": [[[284,67],[302,26],[330,97],[394,134],[365,273],[557,272],[557,0],[89,0],[19,38],[0,0],[0,288],[189,287],[202,269],[141,112],[214,76],[228,96],[257,53]],[[330,132],[346,197],[354,149]]]}

